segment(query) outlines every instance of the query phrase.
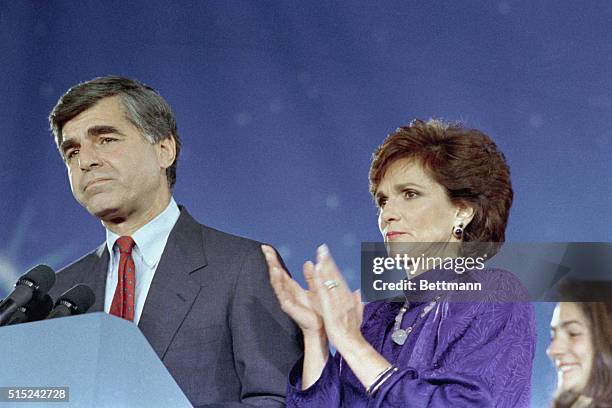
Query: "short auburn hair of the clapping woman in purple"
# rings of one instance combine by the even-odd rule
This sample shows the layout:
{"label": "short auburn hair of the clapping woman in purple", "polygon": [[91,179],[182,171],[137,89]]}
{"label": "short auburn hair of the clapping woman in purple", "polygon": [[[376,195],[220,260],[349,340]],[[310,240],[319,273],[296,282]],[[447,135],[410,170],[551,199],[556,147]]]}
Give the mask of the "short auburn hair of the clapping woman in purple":
{"label": "short auburn hair of the clapping woman in purple", "polygon": [[385,172],[398,159],[413,158],[441,184],[455,205],[474,208],[464,242],[490,242],[489,255],[505,241],[512,206],[510,169],[489,136],[438,119],[414,120],[391,133],[374,151],[370,192],[376,195]]}

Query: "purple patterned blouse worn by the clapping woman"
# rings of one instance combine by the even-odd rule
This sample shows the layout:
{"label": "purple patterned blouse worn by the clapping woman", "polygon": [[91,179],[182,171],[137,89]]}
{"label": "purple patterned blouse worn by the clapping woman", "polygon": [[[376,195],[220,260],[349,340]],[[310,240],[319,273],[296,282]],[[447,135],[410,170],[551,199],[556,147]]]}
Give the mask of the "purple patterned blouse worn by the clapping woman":
{"label": "purple patterned blouse worn by the clapping woman", "polygon": [[485,269],[470,275],[483,284],[487,296],[465,302],[460,301],[461,295],[447,293],[421,318],[435,295],[421,294],[404,315],[402,328],[414,327],[403,346],[391,340],[402,303],[366,305],[361,333],[399,368],[373,396],[366,394],[336,353],[329,356],[317,382],[303,391],[302,360],[295,364],[289,375],[287,406],[528,407],[535,349],[533,305],[509,272]]}

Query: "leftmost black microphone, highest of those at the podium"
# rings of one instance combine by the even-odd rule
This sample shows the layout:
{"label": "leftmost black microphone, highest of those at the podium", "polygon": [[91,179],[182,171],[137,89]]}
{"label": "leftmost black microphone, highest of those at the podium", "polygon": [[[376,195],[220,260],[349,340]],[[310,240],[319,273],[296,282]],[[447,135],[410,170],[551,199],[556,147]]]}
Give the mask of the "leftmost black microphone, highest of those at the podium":
{"label": "leftmost black microphone, highest of those at the podium", "polygon": [[55,283],[55,272],[47,265],[38,265],[22,275],[15,289],[0,303],[0,326],[34,296],[43,297]]}

